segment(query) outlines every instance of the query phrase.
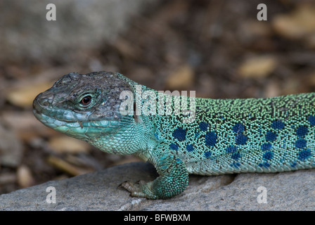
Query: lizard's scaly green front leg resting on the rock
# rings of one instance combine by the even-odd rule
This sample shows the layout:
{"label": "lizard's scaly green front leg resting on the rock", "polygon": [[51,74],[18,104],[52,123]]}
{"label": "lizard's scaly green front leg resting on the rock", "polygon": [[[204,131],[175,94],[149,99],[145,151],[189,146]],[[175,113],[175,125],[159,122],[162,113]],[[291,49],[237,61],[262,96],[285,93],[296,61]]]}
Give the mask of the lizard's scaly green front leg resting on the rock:
{"label": "lizard's scaly green front leg resting on the rock", "polygon": [[127,189],[131,196],[148,199],[167,199],[183,192],[188,185],[188,172],[184,162],[172,153],[161,149],[156,149],[153,153],[158,154],[151,155],[149,161],[155,165],[160,176],[154,181],[139,184],[139,186],[127,181],[122,184],[122,187]]}

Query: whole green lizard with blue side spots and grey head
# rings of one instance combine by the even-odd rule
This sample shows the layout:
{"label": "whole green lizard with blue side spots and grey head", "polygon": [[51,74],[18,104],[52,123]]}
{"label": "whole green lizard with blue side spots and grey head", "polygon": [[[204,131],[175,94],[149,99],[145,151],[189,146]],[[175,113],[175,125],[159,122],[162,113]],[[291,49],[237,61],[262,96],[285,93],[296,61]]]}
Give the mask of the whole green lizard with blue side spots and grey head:
{"label": "whole green lizard with blue side spots and grey head", "polygon": [[[144,96],[146,91],[150,92]],[[315,93],[272,98],[188,96],[194,110],[176,115],[181,105],[172,96],[171,106],[162,108],[162,113],[141,114],[143,105],[154,109],[169,96],[159,94],[119,72],[72,72],[34,99],[33,113],[46,126],[105,153],[132,154],[152,163],[159,174],[154,181],[122,183],[135,197],[179,195],[188,186],[188,174],[315,167]],[[189,116],[193,120],[185,122]]]}

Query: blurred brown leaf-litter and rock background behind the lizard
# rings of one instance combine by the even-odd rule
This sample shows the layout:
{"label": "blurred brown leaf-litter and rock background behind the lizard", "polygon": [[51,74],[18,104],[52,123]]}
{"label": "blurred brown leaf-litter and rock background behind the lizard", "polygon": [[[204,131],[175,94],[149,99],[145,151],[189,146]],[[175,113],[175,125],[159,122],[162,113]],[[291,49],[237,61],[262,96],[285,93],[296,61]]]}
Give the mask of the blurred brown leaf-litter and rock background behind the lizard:
{"label": "blurred brown leaf-litter and rock background behind the lizard", "polygon": [[[50,3],[56,21],[46,20]],[[315,91],[315,1],[1,0],[0,194],[138,160],[32,115],[34,97],[62,75],[98,70],[207,98]]]}

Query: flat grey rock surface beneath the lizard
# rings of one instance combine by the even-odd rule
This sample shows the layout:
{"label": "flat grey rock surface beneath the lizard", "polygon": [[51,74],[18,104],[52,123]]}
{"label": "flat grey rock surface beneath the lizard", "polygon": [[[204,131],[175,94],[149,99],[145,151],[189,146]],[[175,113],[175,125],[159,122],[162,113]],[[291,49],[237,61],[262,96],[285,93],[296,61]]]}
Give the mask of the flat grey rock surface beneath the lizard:
{"label": "flat grey rock surface beneath the lizard", "polygon": [[[315,210],[315,169],[277,174],[191,175],[169,200],[131,198],[123,181],[150,181],[155,168],[135,162],[0,195],[0,210]],[[257,198],[266,191],[266,203]],[[51,191],[56,189],[56,203]]]}

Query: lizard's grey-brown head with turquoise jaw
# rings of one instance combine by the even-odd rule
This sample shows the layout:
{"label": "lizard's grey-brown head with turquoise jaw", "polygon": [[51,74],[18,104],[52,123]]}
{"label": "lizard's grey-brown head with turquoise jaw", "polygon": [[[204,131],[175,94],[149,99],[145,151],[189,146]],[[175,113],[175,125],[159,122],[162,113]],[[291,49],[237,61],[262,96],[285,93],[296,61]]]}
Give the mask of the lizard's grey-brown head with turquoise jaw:
{"label": "lizard's grey-brown head with turquoise jaw", "polygon": [[132,91],[131,83],[114,72],[70,73],[34,99],[33,113],[46,126],[77,139],[115,134],[131,124],[132,117],[120,113],[120,93]]}

